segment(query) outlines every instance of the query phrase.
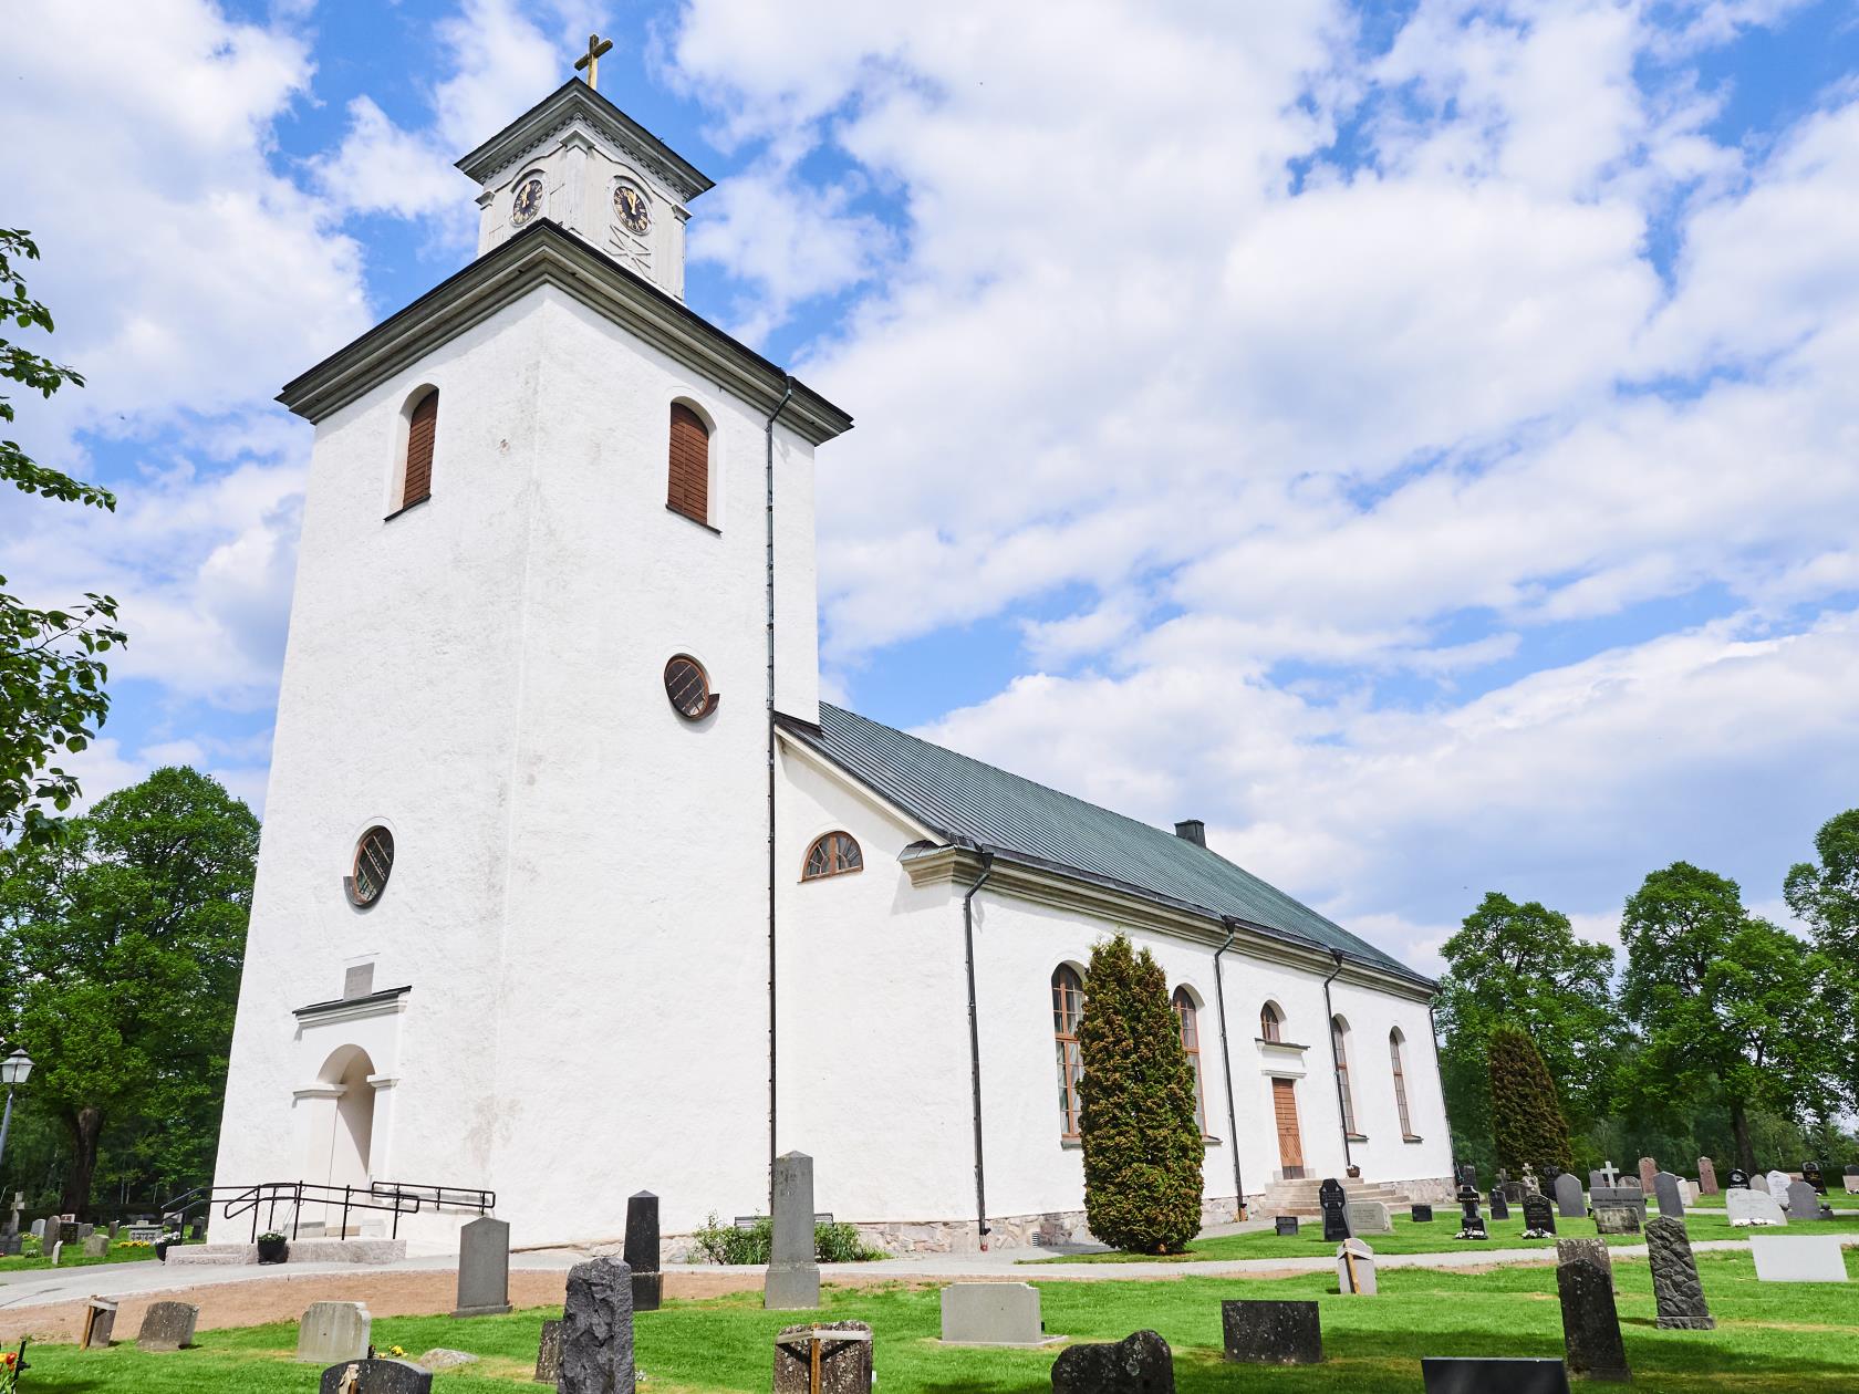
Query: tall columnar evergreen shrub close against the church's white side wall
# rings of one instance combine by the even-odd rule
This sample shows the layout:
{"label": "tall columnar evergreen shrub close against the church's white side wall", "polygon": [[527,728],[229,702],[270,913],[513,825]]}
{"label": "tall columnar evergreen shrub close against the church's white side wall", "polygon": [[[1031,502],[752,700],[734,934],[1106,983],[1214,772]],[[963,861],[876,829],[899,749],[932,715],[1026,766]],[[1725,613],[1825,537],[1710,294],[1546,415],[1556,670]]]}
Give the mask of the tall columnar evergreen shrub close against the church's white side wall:
{"label": "tall columnar evergreen shrub close against the church's white side wall", "polygon": [[1084,1214],[1104,1243],[1179,1253],[1201,1232],[1206,1145],[1167,978],[1125,935],[1091,950],[1078,1052]]}

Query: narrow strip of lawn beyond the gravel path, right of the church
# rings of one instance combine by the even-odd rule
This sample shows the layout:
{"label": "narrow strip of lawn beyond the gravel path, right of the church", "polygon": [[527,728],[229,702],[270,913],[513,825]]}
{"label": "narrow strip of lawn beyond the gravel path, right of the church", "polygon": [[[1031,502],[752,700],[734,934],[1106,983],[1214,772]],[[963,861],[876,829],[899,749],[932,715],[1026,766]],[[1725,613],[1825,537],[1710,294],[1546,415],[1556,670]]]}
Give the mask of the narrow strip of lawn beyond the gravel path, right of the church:
{"label": "narrow strip of lawn beyond the gravel path, right of the church", "polygon": [[[1485,1216],[1485,1229],[1491,1232],[1487,1243],[1478,1240],[1456,1240],[1454,1234],[1459,1232],[1459,1212],[1454,1206],[1450,1212],[1444,1208],[1433,1210],[1435,1219],[1431,1225],[1415,1225],[1407,1216],[1394,1216],[1392,1234],[1365,1234],[1368,1247],[1376,1253],[1457,1253],[1465,1249],[1554,1249],[1556,1240],[1526,1240],[1523,1236],[1523,1216],[1511,1210],[1510,1219],[1491,1219]],[[1649,1214],[1651,1217],[1651,1214]],[[1684,1229],[1692,1236],[1692,1243],[1703,1240],[1747,1240],[1753,1230],[1731,1229],[1731,1221],[1721,1210],[1716,1214],[1699,1214],[1688,1210],[1684,1216]],[[1814,1234],[1840,1234],[1850,1243],[1859,1243],[1859,1216],[1835,1216],[1833,1219],[1814,1221],[1811,1227]],[[1768,1230],[1779,1234],[1781,1230]],[[1792,1227],[1790,1234],[1807,1232],[1805,1227]],[[1591,1219],[1558,1219],[1556,1238],[1591,1238],[1595,1234],[1595,1221]],[[1608,1234],[1604,1236],[1610,1245],[1619,1243],[1645,1243],[1643,1234]],[[1316,1258],[1333,1256],[1337,1253],[1335,1243],[1324,1242],[1324,1221],[1305,1219],[1296,1240],[1279,1238],[1272,1230],[1253,1230],[1249,1234],[1221,1234],[1218,1238],[1201,1238],[1188,1245],[1186,1255],[1156,1256],[1156,1255],[1134,1255],[1134,1253],[1078,1253],[1078,1255],[1060,1255],[1054,1258],[1024,1258],[1022,1268],[1037,1268],[1041,1264],[1173,1264],[1186,1258]]]}

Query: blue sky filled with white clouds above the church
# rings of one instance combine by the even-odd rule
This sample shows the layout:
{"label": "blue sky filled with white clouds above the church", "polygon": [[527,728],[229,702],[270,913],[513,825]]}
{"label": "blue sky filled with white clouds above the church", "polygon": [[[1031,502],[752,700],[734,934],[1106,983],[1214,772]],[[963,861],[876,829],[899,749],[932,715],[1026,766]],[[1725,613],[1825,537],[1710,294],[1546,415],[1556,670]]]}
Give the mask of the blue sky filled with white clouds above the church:
{"label": "blue sky filled with white clouds above the church", "polygon": [[1201,816],[1420,967],[1485,888],[1606,937],[1675,857],[1779,913],[1859,803],[1855,15],[33,6],[7,221],[91,387],[20,439],[123,507],[6,504],[6,572],[125,600],[93,792],[260,803],[309,444],[270,396],[468,260],[450,160],[597,28],[718,180],[690,303],[859,418],[840,701]]}

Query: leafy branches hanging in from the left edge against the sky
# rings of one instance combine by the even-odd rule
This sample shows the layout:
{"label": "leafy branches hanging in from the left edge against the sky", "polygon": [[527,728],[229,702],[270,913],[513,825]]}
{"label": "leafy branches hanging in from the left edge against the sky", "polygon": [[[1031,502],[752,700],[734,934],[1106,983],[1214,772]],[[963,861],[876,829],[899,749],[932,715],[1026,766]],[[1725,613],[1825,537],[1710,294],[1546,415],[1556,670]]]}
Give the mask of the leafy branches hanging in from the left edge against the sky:
{"label": "leafy branches hanging in from the left edge against the sky", "polygon": [[[52,331],[52,314],[26,296],[17,260],[35,260],[39,247],[20,229],[0,229],[0,322]],[[0,338],[0,379],[50,398],[84,379],[71,368]],[[13,401],[0,394],[0,422],[13,420]],[[17,441],[0,441],[0,480],[28,494],[115,509],[108,489],[37,465]],[[6,576],[0,576],[0,587]],[[78,797],[78,781],[50,760],[76,755],[110,714],[102,658],[126,643],[115,628],[117,602],[86,593],[82,604],[37,610],[0,589],[0,838],[43,842],[58,833],[46,807],[63,812]]]}

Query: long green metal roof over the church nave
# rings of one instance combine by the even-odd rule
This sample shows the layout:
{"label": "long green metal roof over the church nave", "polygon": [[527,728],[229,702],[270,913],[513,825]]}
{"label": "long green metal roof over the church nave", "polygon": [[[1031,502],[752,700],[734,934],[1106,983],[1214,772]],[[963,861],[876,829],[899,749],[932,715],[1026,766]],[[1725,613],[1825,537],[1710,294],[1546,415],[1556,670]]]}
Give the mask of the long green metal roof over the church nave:
{"label": "long green metal roof over the church nave", "polygon": [[1080,872],[1208,916],[1340,950],[1346,957],[1430,983],[1277,887],[1195,842],[946,751],[838,706],[820,725],[783,729],[946,842],[1013,853]]}

